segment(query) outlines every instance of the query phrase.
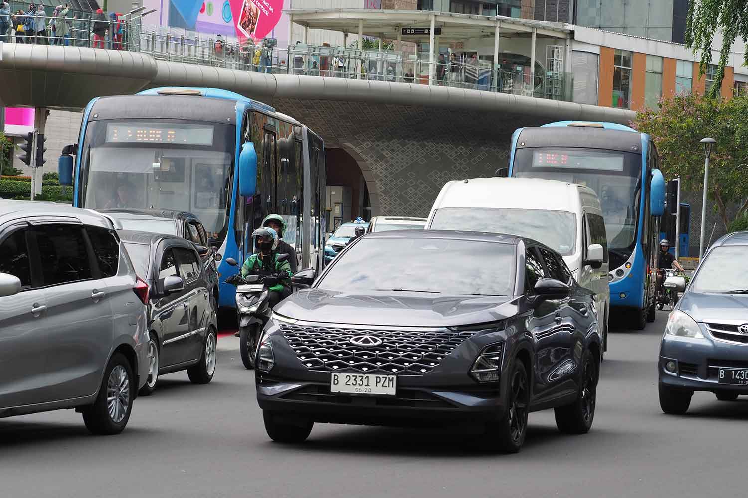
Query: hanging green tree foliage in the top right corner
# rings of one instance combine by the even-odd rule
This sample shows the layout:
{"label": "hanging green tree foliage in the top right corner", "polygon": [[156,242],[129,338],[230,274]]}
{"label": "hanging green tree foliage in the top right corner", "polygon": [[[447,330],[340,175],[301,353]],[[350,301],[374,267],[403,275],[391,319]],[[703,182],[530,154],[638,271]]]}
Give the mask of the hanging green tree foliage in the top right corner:
{"label": "hanging green tree foliage in the top right corner", "polygon": [[[720,93],[720,85],[725,77],[725,66],[732,43],[735,38],[748,40],[748,9],[745,0],[690,0],[686,19],[686,45],[699,52],[701,62],[699,72],[704,74],[706,65],[711,63],[711,46],[714,34],[722,33],[720,60],[717,62],[717,74],[709,95]],[[743,54],[744,63],[748,65],[748,45]]]}

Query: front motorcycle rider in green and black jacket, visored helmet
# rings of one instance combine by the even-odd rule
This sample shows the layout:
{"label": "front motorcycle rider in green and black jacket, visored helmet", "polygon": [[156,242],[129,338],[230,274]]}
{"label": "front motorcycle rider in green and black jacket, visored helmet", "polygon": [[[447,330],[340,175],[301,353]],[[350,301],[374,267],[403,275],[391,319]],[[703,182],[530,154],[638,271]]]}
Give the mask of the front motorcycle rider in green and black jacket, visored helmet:
{"label": "front motorcycle rider in green and black jacket, visored helmet", "polygon": [[[260,276],[269,287],[268,302],[271,308],[290,296],[291,267],[288,261],[278,261],[278,233],[269,227],[257,228],[252,232],[258,252],[251,255],[242,265],[242,277]],[[226,279],[229,284],[239,284],[238,276]]]}

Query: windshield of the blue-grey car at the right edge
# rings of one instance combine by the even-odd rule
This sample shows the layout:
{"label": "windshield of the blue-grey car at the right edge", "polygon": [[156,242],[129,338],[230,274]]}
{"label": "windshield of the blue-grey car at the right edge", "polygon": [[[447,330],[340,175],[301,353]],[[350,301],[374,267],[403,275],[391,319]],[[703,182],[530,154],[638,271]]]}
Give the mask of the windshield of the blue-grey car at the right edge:
{"label": "windshield of the blue-grey car at the right edge", "polygon": [[690,290],[698,293],[748,292],[748,246],[712,249],[693,278]]}

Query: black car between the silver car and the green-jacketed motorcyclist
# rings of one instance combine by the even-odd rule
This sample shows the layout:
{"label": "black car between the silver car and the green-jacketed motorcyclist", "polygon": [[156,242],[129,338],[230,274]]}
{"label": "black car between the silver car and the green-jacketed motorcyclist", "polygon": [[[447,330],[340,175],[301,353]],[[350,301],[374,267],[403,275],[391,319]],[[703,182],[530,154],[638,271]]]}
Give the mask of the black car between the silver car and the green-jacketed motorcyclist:
{"label": "black car between the silver car and the green-jacketed motorcyclist", "polygon": [[207,384],[218,358],[218,278],[207,272],[194,243],[169,234],[119,230],[135,272],[148,284],[148,360],[141,395],[153,393],[159,376],[187,370]]}

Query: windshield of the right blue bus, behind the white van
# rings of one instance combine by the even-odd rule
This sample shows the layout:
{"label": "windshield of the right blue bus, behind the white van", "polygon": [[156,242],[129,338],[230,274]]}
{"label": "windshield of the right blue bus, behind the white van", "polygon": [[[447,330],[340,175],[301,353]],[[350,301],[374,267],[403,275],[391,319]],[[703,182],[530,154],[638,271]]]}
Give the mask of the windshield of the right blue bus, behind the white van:
{"label": "windshield of the right blue bus, behind the white van", "polygon": [[601,149],[518,149],[512,176],[586,185],[600,198],[608,247],[633,248],[641,199],[642,155]]}

